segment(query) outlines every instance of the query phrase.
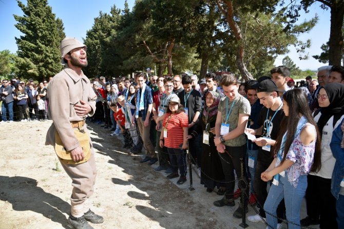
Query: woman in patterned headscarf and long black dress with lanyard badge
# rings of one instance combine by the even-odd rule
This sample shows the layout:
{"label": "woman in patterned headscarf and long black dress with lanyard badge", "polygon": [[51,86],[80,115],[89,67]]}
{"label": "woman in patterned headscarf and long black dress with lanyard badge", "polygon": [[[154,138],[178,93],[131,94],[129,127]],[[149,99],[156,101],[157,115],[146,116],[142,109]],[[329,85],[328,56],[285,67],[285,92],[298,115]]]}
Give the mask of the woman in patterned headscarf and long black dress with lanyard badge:
{"label": "woman in patterned headscarf and long black dress with lanyard badge", "polygon": [[195,131],[187,136],[187,139],[196,138],[198,134],[202,135],[202,158],[201,158],[201,183],[211,193],[217,186],[218,193],[224,194],[225,185],[224,174],[219,154],[214,143],[215,122],[218,111],[221,94],[209,91],[205,96],[206,106],[202,113],[202,121],[198,124]]}

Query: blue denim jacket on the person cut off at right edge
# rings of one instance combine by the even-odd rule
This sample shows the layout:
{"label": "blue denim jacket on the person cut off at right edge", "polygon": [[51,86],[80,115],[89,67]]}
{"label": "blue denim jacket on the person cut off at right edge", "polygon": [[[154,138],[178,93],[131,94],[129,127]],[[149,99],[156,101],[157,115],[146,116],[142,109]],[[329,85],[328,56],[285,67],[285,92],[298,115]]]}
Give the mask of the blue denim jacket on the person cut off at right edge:
{"label": "blue denim jacket on the person cut off at right edge", "polygon": [[339,192],[341,189],[340,182],[344,177],[344,149],[340,147],[340,142],[343,138],[343,132],[341,131],[340,127],[343,122],[344,119],[333,131],[332,140],[330,143],[332,154],[334,158],[336,158],[331,180],[331,193],[336,199],[339,198]]}

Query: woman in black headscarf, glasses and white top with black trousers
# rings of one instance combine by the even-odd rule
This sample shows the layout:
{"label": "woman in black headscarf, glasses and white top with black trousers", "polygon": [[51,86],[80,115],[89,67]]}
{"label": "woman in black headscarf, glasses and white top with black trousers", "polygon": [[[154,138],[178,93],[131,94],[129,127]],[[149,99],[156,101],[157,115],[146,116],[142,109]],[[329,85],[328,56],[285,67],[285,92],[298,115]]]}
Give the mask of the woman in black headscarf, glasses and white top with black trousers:
{"label": "woman in black headscarf, glasses and white top with black trousers", "polygon": [[344,85],[331,83],[320,88],[317,95],[319,111],[313,116],[321,135],[321,168],[311,172],[306,191],[307,217],[302,226],[320,223],[320,228],[338,228],[336,201],[331,194],[331,177],[336,159],[330,149],[332,133],[344,117]]}

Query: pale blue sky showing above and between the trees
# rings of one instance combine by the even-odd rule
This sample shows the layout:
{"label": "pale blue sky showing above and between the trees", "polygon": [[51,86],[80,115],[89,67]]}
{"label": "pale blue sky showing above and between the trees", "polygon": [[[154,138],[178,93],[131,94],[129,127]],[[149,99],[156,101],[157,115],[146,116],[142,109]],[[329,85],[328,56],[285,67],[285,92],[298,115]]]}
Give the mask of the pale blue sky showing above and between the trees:
{"label": "pale blue sky showing above and between the trees", "polygon": [[[22,1],[26,5],[26,1]],[[56,17],[62,19],[66,36],[72,36],[82,41],[86,37],[86,31],[92,28],[94,18],[99,16],[99,12],[109,13],[111,6],[116,5],[117,8],[124,8],[124,0],[48,0],[49,6],[52,7],[52,12]],[[135,4],[135,0],[128,0],[129,9],[131,10]],[[307,60],[299,60],[299,55],[296,49],[289,47],[290,52],[285,55],[279,55],[276,58],[275,66],[282,65],[282,59],[288,55],[302,70],[317,68],[324,64],[319,63],[312,55],[319,55],[321,53],[320,46],[329,40],[330,36],[330,10],[323,10],[320,4],[313,4],[310,12],[301,14],[299,19],[302,22],[304,19],[310,19],[315,14],[319,16],[317,25],[307,34],[302,34],[299,39],[305,41],[311,39],[311,48],[308,50],[309,58]],[[0,50],[8,49],[12,53],[17,51],[15,37],[20,37],[22,34],[14,25],[16,21],[13,15],[23,15],[23,11],[18,7],[15,0],[0,0],[0,28],[2,35],[0,36]]]}

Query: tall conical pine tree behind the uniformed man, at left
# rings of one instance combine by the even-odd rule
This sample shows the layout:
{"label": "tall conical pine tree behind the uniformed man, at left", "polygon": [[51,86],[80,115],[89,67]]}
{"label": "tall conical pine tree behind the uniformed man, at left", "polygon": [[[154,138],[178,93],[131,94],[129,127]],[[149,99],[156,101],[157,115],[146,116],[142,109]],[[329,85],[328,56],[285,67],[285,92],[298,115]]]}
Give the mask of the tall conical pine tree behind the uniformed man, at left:
{"label": "tall conical pine tree behind the uniformed man, at left", "polygon": [[15,37],[18,46],[18,74],[42,80],[62,69],[60,43],[65,37],[63,23],[55,18],[47,0],[28,0],[27,6],[17,0],[24,16],[14,15],[15,27],[24,35]]}

